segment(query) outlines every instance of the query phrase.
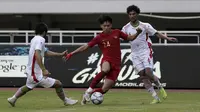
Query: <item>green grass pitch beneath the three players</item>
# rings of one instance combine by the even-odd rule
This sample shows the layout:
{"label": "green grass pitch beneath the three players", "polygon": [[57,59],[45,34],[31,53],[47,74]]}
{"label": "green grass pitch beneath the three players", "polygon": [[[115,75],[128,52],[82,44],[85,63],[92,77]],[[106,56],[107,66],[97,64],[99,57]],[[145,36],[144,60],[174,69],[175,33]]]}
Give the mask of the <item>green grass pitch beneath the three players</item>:
{"label": "green grass pitch beneath the three players", "polygon": [[[82,90],[66,90],[72,98],[81,99]],[[168,92],[168,99],[150,105],[151,96],[145,90],[110,91],[101,105],[64,106],[54,90],[35,90],[11,107],[7,98],[13,90],[0,90],[0,112],[200,112],[200,92]]]}

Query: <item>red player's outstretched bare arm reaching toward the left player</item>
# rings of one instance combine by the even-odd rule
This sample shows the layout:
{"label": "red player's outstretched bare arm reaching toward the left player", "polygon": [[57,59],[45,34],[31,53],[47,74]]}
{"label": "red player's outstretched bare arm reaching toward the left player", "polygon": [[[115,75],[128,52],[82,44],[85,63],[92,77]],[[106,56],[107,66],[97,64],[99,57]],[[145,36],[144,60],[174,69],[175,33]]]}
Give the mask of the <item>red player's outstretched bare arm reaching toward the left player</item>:
{"label": "red player's outstretched bare arm reaching toward the left player", "polygon": [[66,55],[64,57],[65,60],[68,60],[72,57],[72,55],[78,54],[80,52],[83,52],[85,50],[87,50],[89,48],[88,44],[82,45],[81,47],[77,48],[76,50],[74,50],[73,52],[69,53],[68,55]]}

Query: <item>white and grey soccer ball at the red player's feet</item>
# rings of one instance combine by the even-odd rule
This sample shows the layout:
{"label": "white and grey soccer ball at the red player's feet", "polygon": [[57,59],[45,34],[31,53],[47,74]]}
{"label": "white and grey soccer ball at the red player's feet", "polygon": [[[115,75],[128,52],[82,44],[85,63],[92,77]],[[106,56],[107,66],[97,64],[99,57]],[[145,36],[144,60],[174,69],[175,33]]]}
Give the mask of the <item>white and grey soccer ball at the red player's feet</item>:
{"label": "white and grey soccer ball at the red player's feet", "polygon": [[95,105],[101,104],[103,102],[103,94],[101,94],[100,92],[94,92],[91,95],[91,101]]}

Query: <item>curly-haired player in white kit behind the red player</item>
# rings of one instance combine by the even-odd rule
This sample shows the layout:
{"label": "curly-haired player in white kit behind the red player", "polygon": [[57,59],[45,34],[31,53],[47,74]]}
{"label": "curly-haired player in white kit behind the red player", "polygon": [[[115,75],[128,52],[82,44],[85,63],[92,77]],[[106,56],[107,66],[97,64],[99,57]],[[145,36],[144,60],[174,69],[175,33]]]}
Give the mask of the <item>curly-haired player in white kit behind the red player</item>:
{"label": "curly-haired player in white kit behind the red player", "polygon": [[177,39],[173,37],[167,37],[155,30],[149,23],[139,21],[137,19],[139,13],[140,9],[135,5],[131,5],[127,8],[127,14],[130,22],[122,28],[122,31],[126,34],[132,35],[136,33],[137,28],[142,29],[142,33],[135,40],[130,41],[132,63],[138,75],[140,75],[140,79],[144,83],[145,88],[154,98],[151,104],[156,104],[160,103],[161,100],[155,92],[151,82],[154,82],[159,88],[163,99],[167,98],[167,93],[162,87],[159,79],[153,75],[153,51],[151,48],[151,43],[148,43],[148,38],[149,36],[155,35],[158,38],[167,39],[168,41],[172,42],[176,42]]}

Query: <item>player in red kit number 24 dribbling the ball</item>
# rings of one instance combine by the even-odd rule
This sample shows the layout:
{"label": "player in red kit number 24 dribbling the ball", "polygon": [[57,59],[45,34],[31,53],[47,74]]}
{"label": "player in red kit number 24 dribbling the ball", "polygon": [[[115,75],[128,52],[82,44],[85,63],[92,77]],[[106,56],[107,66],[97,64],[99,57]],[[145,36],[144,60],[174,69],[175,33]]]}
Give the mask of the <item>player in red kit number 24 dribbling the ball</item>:
{"label": "player in red kit number 24 dribbling the ball", "polygon": [[[88,44],[79,47],[65,57],[65,59],[68,60],[71,56],[95,45],[98,45],[103,53],[101,72],[95,76],[90,87],[83,94],[82,105],[90,101],[91,93],[100,92],[104,94],[115,84],[121,66],[120,38],[124,40],[134,40],[142,32],[141,29],[138,28],[136,34],[127,35],[118,29],[112,29],[112,18],[109,16],[100,16],[98,21],[103,30],[102,33],[93,38]],[[102,88],[94,89],[103,78],[105,78],[105,80]]]}

